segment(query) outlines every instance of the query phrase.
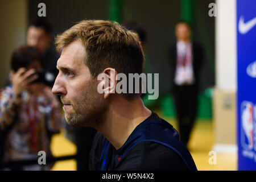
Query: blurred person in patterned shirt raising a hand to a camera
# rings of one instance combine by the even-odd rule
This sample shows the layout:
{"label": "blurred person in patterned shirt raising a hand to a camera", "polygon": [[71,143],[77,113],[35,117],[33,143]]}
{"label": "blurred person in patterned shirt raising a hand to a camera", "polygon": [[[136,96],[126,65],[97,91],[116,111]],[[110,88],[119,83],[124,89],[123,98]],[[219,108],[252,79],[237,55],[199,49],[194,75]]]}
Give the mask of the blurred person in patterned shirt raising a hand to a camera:
{"label": "blurred person in patterned shirt raising a hand to a camera", "polygon": [[[63,117],[59,101],[46,86],[37,48],[23,46],[11,57],[11,85],[0,92],[1,158],[3,162],[51,156],[51,135],[59,133]],[[0,159],[1,160],[1,159]],[[11,170],[49,170],[51,165],[13,167]]]}

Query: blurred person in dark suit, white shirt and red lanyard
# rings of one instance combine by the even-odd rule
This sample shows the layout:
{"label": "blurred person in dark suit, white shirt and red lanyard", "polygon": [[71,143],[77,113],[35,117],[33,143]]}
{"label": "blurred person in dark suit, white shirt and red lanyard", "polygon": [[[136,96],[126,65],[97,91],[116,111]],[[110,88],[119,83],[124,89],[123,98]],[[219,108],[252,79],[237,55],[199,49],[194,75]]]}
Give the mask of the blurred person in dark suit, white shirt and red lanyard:
{"label": "blurred person in dark suit, white shirt and red lanyard", "polygon": [[178,22],[175,26],[176,42],[169,50],[180,139],[186,146],[196,119],[199,72],[203,62],[203,48],[191,40],[191,34],[189,23]]}

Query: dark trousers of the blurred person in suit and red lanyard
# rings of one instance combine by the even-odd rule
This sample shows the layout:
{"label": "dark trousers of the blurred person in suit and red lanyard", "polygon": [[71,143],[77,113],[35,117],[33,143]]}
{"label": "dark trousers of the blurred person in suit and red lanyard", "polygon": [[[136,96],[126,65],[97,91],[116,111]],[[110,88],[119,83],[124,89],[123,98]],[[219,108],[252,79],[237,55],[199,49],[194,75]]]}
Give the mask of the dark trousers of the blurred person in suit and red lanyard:
{"label": "dark trousers of the blurred person in suit and red lanyard", "polygon": [[179,126],[180,140],[187,146],[197,114],[197,86],[175,85],[174,104]]}

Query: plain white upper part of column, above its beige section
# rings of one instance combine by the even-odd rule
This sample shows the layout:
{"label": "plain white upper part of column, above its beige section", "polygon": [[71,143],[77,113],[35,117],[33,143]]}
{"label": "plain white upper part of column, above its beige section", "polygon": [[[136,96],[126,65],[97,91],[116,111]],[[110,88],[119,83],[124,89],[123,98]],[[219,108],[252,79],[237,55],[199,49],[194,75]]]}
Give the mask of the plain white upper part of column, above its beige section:
{"label": "plain white upper part of column, above its beige section", "polygon": [[216,0],[216,87],[236,92],[236,0]]}

